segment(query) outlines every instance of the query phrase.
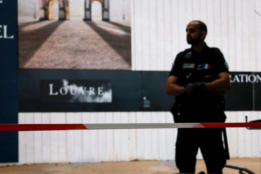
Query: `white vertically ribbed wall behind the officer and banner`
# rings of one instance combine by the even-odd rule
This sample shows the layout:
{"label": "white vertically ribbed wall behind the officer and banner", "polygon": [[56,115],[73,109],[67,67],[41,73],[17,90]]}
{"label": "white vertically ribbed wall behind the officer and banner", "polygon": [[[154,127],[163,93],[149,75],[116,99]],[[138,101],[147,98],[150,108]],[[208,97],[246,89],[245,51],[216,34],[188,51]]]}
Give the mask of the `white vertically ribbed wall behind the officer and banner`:
{"label": "white vertically ribbed wall behind the officer and banner", "polygon": [[[170,70],[189,48],[186,25],[208,26],[230,71],[261,71],[261,0],[132,0],[132,70]],[[238,94],[240,95],[240,94]],[[226,112],[226,122],[261,112]],[[19,113],[23,123],[172,123],[169,112]],[[176,129],[19,132],[19,163],[174,160]],[[227,128],[230,156],[260,157],[261,131]],[[202,158],[199,153],[198,158]]]}

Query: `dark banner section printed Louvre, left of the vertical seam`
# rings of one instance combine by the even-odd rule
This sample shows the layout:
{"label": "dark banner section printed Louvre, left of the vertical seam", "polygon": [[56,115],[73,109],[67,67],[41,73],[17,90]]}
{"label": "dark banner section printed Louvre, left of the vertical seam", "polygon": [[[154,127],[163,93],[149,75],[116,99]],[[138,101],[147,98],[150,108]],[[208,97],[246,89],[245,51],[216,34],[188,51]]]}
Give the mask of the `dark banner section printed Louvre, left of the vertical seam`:
{"label": "dark banner section printed Louvre, left of the vertical seam", "polygon": [[140,89],[140,71],[19,70],[19,112],[138,111]]}

